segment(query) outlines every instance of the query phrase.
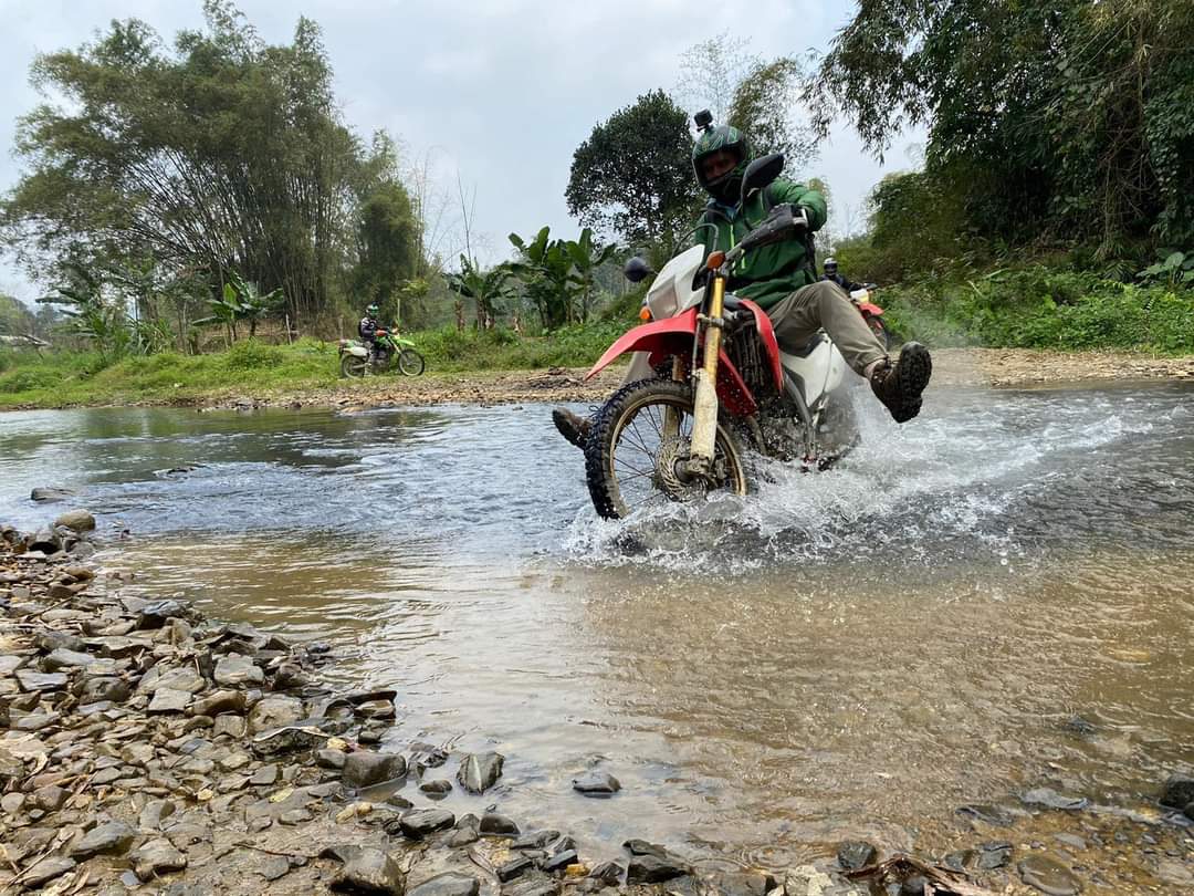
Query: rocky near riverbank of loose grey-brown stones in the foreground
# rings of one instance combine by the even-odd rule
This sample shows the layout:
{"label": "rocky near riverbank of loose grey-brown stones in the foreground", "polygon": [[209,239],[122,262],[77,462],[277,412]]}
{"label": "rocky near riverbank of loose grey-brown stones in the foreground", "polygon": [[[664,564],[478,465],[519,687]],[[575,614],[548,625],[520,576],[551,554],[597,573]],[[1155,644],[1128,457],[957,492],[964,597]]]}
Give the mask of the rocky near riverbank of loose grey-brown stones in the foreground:
{"label": "rocky near riverbank of loose grey-brown stones in the foreground", "polygon": [[[90,560],[93,526],[70,511],[33,534],[0,529],[0,892],[967,896],[1194,884],[1182,816],[1194,779],[1180,775],[1165,817],[1084,815],[1084,800],[1046,788],[1015,810],[964,806],[950,835],[964,847],[934,853],[940,861],[866,842],[816,865],[732,872],[685,845],[629,840],[620,855],[595,854],[500,814],[497,753],[378,749],[396,693],[331,689],[325,646],[204,619],[172,595],[123,594]],[[573,787],[617,799],[608,774]],[[474,794],[475,811],[439,808],[453,790]],[[1066,828],[1044,833],[1058,818]]]}

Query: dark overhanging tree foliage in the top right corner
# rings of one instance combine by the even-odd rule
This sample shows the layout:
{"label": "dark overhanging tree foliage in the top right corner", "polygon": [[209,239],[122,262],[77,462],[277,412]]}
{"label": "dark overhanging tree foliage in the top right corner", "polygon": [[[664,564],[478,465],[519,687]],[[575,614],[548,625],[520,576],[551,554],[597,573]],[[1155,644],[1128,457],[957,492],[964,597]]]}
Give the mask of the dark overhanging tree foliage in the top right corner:
{"label": "dark overhanging tree foliage in the top right corner", "polygon": [[880,152],[927,124],[925,176],[983,239],[1194,241],[1189,0],[874,0],[808,96]]}

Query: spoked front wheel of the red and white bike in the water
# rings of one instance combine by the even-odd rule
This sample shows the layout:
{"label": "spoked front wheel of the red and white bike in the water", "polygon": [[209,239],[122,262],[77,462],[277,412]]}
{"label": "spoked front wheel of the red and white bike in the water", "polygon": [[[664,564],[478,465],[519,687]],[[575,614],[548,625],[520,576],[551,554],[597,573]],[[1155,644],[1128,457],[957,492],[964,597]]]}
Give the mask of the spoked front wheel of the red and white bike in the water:
{"label": "spoked front wheel of the red and white bike in the water", "polygon": [[741,449],[720,424],[712,478],[687,475],[693,423],[693,389],[687,382],[640,380],[618,389],[598,411],[585,446],[589,495],[597,513],[617,520],[709,491],[745,495]]}

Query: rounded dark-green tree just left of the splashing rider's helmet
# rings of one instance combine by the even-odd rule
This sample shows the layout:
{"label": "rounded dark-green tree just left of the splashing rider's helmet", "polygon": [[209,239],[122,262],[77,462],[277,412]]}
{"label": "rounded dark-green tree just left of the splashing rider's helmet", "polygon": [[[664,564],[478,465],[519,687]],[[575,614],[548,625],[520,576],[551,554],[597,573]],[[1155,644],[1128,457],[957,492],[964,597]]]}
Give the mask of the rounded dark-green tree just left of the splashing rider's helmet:
{"label": "rounded dark-green tree just left of the splashing rider's helmet", "polygon": [[633,245],[677,245],[700,203],[688,115],[663,91],[597,124],[577,147],[568,213]]}

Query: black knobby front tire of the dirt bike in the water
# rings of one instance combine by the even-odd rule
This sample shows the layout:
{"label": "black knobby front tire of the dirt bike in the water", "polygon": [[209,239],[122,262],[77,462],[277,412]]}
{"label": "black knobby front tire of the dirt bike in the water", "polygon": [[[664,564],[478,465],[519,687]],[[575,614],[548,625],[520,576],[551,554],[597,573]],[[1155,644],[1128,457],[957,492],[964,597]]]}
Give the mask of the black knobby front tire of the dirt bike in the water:
{"label": "black knobby front tire of the dirt bike in the water", "polygon": [[[593,508],[607,520],[624,517],[633,509],[622,495],[624,480],[620,481],[616,468],[617,448],[627,426],[633,425],[636,415],[652,406],[673,407],[691,422],[693,388],[688,382],[676,380],[639,380],[615,392],[593,418],[589,441],[585,443],[585,478]],[[741,448],[730,429],[720,422],[715,452],[726,468],[725,480],[718,487],[745,495],[746,473]],[[642,478],[645,473],[646,471],[641,471],[639,475],[630,478]],[[658,489],[654,493],[665,497],[665,492]]]}

